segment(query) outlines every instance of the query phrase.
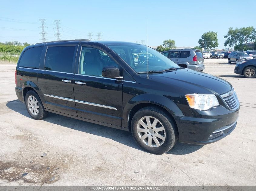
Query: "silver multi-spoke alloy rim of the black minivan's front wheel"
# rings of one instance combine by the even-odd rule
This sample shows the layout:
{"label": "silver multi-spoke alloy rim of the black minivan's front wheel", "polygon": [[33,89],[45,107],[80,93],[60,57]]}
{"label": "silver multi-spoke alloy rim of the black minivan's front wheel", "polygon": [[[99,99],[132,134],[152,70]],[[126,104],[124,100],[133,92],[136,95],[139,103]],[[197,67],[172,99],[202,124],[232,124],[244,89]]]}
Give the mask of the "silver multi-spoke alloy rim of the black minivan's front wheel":
{"label": "silver multi-spoke alloy rim of the black minivan's front wheel", "polygon": [[149,147],[159,147],[165,142],[165,127],[155,117],[142,117],[136,130],[141,141]]}

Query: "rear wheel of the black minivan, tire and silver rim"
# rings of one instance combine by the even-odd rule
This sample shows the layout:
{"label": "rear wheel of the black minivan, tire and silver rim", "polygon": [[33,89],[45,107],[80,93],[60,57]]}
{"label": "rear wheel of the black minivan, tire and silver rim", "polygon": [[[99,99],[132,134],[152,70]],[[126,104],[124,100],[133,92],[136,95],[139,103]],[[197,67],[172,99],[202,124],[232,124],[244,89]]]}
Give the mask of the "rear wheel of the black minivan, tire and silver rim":
{"label": "rear wheel of the black minivan, tire and silver rim", "polygon": [[28,110],[29,115],[36,120],[41,120],[48,115],[48,112],[45,111],[42,101],[35,91],[28,91],[25,96],[25,104]]}

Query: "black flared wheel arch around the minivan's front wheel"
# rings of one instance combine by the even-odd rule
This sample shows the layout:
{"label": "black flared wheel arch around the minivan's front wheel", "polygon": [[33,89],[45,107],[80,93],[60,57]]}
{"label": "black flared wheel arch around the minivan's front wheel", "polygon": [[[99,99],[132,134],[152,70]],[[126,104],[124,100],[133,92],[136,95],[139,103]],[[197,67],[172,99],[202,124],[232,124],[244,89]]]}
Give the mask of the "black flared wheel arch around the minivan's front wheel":
{"label": "black flared wheel arch around the minivan's front wheel", "polygon": [[128,128],[129,120],[132,118],[132,116],[130,116],[131,110],[141,103],[151,103],[160,106],[167,110],[175,120],[175,116],[183,115],[180,108],[172,100],[165,96],[155,94],[140,94],[138,96],[132,97],[132,99],[129,100],[128,103],[124,106],[122,127]]}

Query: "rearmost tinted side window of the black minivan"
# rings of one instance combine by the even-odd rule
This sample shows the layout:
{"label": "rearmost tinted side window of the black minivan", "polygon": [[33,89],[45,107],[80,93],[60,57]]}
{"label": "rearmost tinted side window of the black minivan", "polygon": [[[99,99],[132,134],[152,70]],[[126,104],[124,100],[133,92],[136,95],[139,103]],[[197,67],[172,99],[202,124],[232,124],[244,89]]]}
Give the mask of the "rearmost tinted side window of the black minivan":
{"label": "rearmost tinted side window of the black minivan", "polygon": [[43,46],[26,50],[20,59],[19,66],[26,68],[39,68],[42,50]]}

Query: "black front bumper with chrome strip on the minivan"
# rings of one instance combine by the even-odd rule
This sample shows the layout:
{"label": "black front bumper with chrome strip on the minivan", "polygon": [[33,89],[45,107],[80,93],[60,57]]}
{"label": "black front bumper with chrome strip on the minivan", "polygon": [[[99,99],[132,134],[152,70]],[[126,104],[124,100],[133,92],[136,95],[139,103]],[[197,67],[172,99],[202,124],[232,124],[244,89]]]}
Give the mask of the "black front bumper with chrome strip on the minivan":
{"label": "black front bumper with chrome strip on the minivan", "polygon": [[178,119],[180,142],[205,145],[224,138],[235,129],[239,108],[231,111],[218,106],[200,113],[200,117],[181,116]]}

